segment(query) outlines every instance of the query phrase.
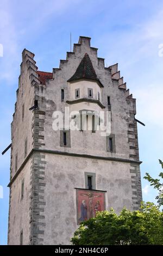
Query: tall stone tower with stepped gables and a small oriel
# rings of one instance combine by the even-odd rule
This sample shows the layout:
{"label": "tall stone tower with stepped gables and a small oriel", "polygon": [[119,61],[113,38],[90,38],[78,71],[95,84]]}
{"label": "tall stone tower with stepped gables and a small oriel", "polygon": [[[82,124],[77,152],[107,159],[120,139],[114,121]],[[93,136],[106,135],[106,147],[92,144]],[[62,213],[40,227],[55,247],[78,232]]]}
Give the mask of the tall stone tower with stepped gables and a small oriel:
{"label": "tall stone tower with stepped gables and a small oriel", "polygon": [[[106,68],[90,40],[80,36],[52,73],[38,71],[34,54],[22,52],[11,123],[9,245],[68,245],[96,211],[139,209],[136,100],[118,65]],[[109,124],[99,112],[109,113]],[[69,121],[55,129],[56,113],[79,129],[67,128]],[[101,123],[110,125],[105,136],[96,129]]]}

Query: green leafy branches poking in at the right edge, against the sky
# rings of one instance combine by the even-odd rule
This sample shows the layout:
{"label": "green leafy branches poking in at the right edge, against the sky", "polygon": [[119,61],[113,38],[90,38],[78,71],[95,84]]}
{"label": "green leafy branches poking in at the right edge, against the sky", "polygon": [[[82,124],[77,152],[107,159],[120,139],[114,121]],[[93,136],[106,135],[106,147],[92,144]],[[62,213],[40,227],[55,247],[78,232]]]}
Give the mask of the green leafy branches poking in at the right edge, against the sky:
{"label": "green leafy branches poking in at the right edge, against the sky", "polygon": [[[159,163],[161,164],[161,167],[163,169],[163,162],[159,159]],[[161,177],[161,179],[163,179],[163,173],[160,172],[159,176]],[[160,179],[153,179],[149,173],[146,173],[146,176],[144,177],[144,179],[148,180],[151,184],[150,186],[153,186],[154,188],[156,188],[156,190],[159,191],[158,196],[156,196],[156,200],[158,202],[158,205],[161,206],[163,205],[163,180],[160,181]]]}

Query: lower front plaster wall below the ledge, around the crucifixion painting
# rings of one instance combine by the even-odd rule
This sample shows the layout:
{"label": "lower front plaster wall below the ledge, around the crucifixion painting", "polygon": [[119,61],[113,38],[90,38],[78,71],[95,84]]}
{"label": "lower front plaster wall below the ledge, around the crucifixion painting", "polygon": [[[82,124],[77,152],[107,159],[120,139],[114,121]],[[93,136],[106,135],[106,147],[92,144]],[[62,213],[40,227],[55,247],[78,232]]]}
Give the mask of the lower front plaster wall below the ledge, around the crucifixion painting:
{"label": "lower front plaster wall below the ledge, around the crucifixion painting", "polygon": [[45,245],[68,245],[78,228],[76,189],[85,188],[84,172],[96,173],[96,189],[106,190],[106,210],[131,209],[130,164],[46,155]]}

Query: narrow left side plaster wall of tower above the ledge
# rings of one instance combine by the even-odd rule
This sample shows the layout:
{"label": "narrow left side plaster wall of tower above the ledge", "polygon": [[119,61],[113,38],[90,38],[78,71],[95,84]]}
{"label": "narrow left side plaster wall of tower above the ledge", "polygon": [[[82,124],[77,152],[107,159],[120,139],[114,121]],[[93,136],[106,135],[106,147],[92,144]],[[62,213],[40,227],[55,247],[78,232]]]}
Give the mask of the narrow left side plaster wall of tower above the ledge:
{"label": "narrow left side plaster wall of tower above the ledge", "polygon": [[[22,106],[24,104],[24,118],[22,120]],[[19,90],[17,95],[17,107],[12,122],[12,165],[11,175],[14,176],[15,156],[17,154],[17,170],[25,160],[24,143],[27,138],[27,155],[33,148],[32,118],[33,112],[29,108],[34,105],[34,87],[29,80],[27,65],[22,63]]]}

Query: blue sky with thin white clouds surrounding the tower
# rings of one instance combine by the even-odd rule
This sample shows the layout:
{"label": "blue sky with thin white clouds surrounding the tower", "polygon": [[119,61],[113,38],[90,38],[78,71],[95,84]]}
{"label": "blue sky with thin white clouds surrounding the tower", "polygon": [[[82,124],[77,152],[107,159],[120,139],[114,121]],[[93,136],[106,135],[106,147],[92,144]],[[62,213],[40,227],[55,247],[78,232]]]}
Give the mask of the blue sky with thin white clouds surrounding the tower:
{"label": "blue sky with thin white clouds surrounding the tower", "polygon": [[[163,160],[163,2],[158,0],[1,0],[0,2],[0,151],[10,144],[23,48],[35,53],[39,70],[52,71],[66,58],[79,35],[90,36],[105,64],[118,62],[121,76],[137,99],[141,175],[157,177]],[[0,244],[7,243],[10,150],[0,156]],[[143,200],[154,201],[156,193],[142,179]]]}

